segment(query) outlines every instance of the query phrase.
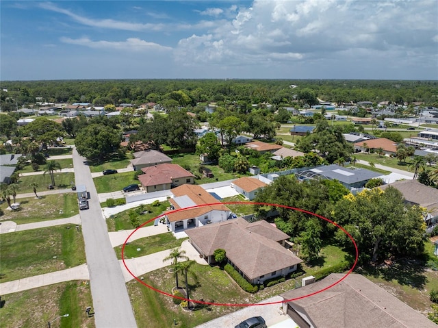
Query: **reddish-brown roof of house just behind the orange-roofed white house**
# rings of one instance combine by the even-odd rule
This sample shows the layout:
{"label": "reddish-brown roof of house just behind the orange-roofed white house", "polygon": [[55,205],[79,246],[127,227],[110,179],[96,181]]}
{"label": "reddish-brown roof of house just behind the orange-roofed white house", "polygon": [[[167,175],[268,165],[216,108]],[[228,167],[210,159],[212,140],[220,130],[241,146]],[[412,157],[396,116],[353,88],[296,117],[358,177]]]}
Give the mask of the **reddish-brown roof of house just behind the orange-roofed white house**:
{"label": "reddish-brown roof of house just behind the orange-roofed white house", "polygon": [[158,164],[142,168],[144,174],[139,175],[138,179],[143,186],[157,186],[159,184],[171,184],[172,179],[184,177],[194,177],[192,173],[184,170],[177,164]]}

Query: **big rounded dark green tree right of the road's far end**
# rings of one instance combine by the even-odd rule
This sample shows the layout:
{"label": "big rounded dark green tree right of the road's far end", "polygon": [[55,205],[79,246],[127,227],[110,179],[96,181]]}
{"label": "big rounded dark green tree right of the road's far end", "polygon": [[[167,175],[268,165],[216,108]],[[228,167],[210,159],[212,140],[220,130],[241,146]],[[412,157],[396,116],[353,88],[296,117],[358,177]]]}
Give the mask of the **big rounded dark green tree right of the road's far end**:
{"label": "big rounded dark green tree right of the road's far end", "polygon": [[75,139],[77,152],[89,160],[101,160],[118,151],[121,132],[101,124],[81,129]]}

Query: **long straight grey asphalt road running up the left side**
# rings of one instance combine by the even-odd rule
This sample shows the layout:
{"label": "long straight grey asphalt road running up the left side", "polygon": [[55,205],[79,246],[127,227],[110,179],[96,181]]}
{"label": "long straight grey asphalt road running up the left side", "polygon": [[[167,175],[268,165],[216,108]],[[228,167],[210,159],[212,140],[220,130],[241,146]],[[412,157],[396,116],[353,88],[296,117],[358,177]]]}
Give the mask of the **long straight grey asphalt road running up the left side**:
{"label": "long straight grey asphalt road running up the left side", "polygon": [[[99,197],[85,158],[73,150],[76,185],[85,185],[90,192],[90,209],[80,211],[85,251],[90,271],[96,328],[137,327],[125,278],[112,249]],[[85,313],[85,309],[84,309]]]}

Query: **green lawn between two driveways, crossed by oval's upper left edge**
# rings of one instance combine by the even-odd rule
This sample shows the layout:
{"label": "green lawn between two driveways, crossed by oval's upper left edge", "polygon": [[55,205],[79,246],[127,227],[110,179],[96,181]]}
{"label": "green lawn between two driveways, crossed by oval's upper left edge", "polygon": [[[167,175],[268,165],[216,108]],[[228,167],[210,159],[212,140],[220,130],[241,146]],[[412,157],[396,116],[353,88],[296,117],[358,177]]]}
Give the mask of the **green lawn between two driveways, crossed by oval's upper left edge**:
{"label": "green lawn between two driveways, crossed by oval's upper left edge", "polygon": [[[181,243],[187,238],[177,239],[171,232],[166,234],[159,234],[151,237],[134,240],[125,246],[125,258],[140,257],[149,255],[166,249],[175,249],[180,247]],[[140,251],[138,251],[140,249]],[[122,259],[122,246],[115,247],[118,260]]]}

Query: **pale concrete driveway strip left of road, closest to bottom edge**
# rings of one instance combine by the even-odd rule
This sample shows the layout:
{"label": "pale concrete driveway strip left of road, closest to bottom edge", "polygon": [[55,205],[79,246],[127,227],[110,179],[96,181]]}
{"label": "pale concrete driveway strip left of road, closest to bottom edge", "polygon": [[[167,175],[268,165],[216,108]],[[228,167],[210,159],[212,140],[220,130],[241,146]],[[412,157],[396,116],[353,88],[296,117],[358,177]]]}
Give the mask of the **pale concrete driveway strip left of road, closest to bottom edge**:
{"label": "pale concrete driveway strip left of road, closest to bottom edge", "polygon": [[0,294],[5,295],[13,292],[22,292],[23,290],[48,286],[64,281],[88,279],[90,279],[88,266],[87,264],[82,264],[66,270],[0,283]]}

